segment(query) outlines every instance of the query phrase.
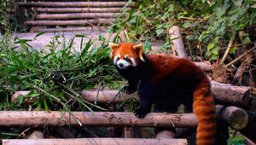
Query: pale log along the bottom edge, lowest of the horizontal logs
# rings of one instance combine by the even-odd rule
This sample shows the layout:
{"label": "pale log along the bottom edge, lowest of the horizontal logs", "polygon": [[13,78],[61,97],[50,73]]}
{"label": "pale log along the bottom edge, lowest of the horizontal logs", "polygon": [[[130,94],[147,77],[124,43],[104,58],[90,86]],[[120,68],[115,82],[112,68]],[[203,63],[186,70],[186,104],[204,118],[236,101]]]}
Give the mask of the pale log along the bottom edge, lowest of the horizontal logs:
{"label": "pale log along the bottom edge, lowest of the horizontal logs", "polygon": [[54,144],[83,144],[83,145],[186,145],[186,139],[151,139],[151,138],[76,138],[76,139],[4,139],[3,145],[54,145]]}

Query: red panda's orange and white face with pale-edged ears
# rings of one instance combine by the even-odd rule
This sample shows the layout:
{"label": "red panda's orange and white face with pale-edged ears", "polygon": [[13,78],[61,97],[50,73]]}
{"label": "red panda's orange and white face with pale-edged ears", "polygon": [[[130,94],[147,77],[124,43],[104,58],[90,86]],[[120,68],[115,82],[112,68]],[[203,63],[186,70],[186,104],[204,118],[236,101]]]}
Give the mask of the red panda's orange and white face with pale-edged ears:
{"label": "red panda's orange and white face with pale-edged ears", "polygon": [[120,69],[137,67],[139,61],[144,61],[142,44],[110,43],[109,47],[111,49],[111,58],[113,59],[113,63]]}

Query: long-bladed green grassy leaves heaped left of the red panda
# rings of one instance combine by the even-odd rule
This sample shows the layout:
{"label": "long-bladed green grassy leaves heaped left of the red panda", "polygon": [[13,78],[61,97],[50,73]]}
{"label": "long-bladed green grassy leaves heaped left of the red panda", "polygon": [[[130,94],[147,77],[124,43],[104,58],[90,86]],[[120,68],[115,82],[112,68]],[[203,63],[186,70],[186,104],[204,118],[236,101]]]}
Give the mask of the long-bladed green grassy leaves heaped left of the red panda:
{"label": "long-bladed green grassy leaves heaped left of the red panda", "polygon": [[[41,34],[38,33],[36,38]],[[1,38],[1,110],[25,109],[20,106],[24,96],[19,96],[15,103],[9,102],[16,90],[32,90],[26,96],[28,98],[40,96],[38,102],[33,104],[40,110],[90,110],[90,107],[96,106],[84,101],[79,96],[80,90],[96,85],[101,88],[118,86],[113,82],[119,78],[114,68],[110,67],[109,49],[104,38],[100,37],[102,44],[99,45],[94,45],[93,40],[83,44],[85,36],[76,35],[74,38],[82,38],[81,51],[78,52],[73,49],[74,38],[68,42],[64,38],[60,42],[60,37],[64,36],[55,36],[50,42],[49,52],[31,48],[27,44],[32,41],[30,39],[15,38],[15,44],[20,45],[17,49],[9,44],[8,35]],[[75,102],[79,102],[79,107],[73,105]]]}

